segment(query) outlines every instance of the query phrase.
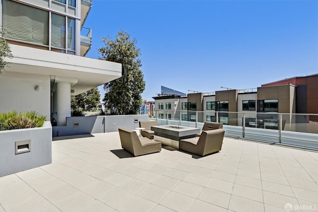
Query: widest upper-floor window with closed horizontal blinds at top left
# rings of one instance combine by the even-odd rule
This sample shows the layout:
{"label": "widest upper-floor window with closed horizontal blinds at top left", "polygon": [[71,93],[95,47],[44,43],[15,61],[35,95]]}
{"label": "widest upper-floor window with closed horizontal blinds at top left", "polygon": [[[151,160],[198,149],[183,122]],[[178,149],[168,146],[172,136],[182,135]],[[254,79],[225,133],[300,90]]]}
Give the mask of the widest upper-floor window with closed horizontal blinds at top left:
{"label": "widest upper-floor window with closed horizontal blinds at top left", "polygon": [[49,45],[48,11],[12,0],[2,0],[2,27],[6,29],[7,38]]}

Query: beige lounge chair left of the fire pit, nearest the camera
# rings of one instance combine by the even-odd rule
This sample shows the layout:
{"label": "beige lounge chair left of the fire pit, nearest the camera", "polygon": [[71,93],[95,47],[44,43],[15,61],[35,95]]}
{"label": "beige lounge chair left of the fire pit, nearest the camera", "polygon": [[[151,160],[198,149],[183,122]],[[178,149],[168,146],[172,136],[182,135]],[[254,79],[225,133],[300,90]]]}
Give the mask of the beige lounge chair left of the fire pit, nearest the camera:
{"label": "beige lounge chair left of the fire pit, nearest the camera", "polygon": [[136,131],[127,128],[118,128],[121,147],[134,156],[145,155],[161,151],[161,142],[138,137]]}

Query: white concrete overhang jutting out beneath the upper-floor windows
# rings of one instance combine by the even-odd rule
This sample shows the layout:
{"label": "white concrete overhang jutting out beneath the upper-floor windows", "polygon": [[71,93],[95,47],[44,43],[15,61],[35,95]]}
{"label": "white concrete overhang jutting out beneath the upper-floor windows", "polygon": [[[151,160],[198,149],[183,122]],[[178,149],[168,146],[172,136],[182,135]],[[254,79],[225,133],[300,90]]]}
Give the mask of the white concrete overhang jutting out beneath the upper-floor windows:
{"label": "white concrete overhang jutting out beneath the upper-floor windows", "polygon": [[74,96],[122,75],[120,63],[12,44],[10,48],[13,58],[7,60],[11,64],[6,71],[77,78],[72,87]]}

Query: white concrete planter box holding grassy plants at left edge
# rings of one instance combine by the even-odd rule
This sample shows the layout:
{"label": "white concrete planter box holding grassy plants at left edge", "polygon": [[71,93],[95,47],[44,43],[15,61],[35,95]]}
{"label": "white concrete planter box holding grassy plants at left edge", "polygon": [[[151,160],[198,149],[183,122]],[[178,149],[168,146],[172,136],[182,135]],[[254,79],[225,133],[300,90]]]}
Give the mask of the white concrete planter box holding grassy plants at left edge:
{"label": "white concrete planter box holding grassy plants at left edge", "polygon": [[0,131],[0,177],[52,163],[52,126]]}

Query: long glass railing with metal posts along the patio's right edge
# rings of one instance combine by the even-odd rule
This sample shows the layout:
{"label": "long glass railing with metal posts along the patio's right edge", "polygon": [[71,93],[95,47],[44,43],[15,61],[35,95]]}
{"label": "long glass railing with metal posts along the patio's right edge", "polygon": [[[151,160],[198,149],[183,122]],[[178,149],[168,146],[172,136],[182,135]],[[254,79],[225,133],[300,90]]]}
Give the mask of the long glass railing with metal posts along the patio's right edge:
{"label": "long glass railing with metal posts along the patio's right edge", "polygon": [[223,123],[227,136],[318,149],[318,114],[277,112],[147,110],[159,125],[203,127],[205,121]]}

